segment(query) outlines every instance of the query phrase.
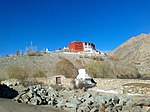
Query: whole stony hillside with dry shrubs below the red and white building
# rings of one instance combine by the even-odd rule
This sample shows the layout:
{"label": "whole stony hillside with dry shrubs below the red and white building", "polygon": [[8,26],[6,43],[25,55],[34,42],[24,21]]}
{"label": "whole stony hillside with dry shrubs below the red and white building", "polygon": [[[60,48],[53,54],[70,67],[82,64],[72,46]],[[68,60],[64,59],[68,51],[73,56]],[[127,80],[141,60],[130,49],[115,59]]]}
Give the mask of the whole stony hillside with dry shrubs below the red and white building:
{"label": "whole stony hillside with dry shrubs below the red and white building", "polygon": [[0,58],[0,80],[64,75],[75,78],[77,70],[85,68],[94,78],[141,78],[137,68],[131,64],[111,60],[107,55],[79,55],[63,52],[42,55],[22,55]]}

